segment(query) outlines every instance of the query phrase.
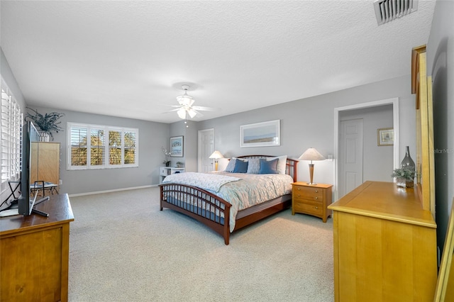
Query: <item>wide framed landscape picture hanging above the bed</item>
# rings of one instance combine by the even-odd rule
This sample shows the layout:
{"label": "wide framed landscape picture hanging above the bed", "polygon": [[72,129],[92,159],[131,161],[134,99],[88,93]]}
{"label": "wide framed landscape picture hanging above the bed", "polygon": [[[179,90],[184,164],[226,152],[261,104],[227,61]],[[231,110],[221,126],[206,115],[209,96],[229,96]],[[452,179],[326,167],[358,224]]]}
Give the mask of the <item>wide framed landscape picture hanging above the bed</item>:
{"label": "wide framed landscape picture hanging above the bed", "polygon": [[240,126],[240,147],[281,145],[280,120]]}

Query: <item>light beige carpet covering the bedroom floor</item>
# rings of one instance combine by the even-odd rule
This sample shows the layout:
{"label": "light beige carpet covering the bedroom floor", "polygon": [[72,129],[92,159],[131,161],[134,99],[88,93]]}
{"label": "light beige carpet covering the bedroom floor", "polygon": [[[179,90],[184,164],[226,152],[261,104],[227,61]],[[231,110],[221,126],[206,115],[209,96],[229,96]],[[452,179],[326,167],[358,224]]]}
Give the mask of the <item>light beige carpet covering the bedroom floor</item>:
{"label": "light beige carpet covering the bedroom floor", "polygon": [[70,201],[70,301],[333,301],[331,218],[283,211],[224,245],[157,187]]}

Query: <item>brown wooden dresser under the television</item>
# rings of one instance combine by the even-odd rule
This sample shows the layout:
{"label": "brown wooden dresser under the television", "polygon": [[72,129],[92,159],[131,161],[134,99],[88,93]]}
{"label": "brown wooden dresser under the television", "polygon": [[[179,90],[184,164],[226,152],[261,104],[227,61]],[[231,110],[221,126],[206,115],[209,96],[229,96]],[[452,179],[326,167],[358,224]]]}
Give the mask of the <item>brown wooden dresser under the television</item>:
{"label": "brown wooden dresser under the television", "polygon": [[67,194],[35,206],[49,217],[0,218],[0,301],[67,301],[70,222]]}

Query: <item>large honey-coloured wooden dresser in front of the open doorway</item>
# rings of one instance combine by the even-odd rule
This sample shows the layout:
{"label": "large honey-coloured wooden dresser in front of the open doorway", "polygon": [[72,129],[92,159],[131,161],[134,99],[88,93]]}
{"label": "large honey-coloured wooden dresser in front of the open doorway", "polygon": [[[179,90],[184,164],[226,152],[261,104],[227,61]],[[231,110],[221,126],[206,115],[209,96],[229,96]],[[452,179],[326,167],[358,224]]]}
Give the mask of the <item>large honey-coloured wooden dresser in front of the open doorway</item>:
{"label": "large honey-coloured wooden dresser in front of the open doorway", "polygon": [[416,188],[366,181],[328,208],[335,301],[433,301],[436,223]]}

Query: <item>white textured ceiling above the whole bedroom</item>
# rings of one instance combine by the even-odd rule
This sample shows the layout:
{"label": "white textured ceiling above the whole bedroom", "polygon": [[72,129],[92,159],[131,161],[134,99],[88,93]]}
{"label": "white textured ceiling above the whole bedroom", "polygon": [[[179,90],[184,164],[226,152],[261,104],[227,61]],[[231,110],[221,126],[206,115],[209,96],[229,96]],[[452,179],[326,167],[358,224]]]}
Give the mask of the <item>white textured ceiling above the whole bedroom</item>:
{"label": "white textured ceiling above the whole bedroom", "polygon": [[1,1],[0,45],[27,104],[201,121],[409,74],[435,1],[377,26],[373,1]]}

